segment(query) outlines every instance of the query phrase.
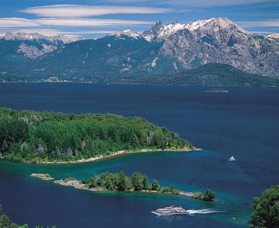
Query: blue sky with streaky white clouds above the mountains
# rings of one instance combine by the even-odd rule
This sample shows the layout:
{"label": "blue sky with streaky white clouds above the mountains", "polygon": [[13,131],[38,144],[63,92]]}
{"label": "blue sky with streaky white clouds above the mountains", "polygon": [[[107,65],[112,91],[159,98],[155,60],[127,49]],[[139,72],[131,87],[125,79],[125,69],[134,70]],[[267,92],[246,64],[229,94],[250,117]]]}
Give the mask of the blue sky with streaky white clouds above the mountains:
{"label": "blue sky with streaky white clouds above the mountains", "polygon": [[158,21],[212,17],[227,17],[253,33],[279,33],[279,0],[0,0],[0,34],[100,38],[123,29],[142,32]]}

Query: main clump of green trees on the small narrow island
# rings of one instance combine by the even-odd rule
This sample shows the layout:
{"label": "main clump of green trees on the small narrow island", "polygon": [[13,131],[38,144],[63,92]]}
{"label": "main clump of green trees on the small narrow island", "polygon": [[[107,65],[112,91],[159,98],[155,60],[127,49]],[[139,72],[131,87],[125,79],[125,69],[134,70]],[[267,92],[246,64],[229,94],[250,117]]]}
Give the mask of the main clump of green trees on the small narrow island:
{"label": "main clump of green trees on the small narrow island", "polygon": [[126,176],[123,171],[119,173],[103,172],[100,176],[93,174],[89,180],[82,180],[82,184],[89,188],[104,188],[106,190],[153,190],[160,193],[179,194],[179,190],[174,188],[174,185],[170,186],[170,188],[161,186],[156,179],[149,183],[148,177],[140,172],[133,172],[131,177]]}

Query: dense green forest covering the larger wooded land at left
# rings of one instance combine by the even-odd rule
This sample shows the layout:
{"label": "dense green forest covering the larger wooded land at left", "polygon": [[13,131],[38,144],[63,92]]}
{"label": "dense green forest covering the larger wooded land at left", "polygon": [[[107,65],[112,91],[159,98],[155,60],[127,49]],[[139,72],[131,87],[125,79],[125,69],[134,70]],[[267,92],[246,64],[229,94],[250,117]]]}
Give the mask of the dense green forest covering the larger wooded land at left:
{"label": "dense green forest covering the larger wooded land at left", "polygon": [[13,161],[76,161],[119,150],[193,148],[142,117],[0,108],[0,156]]}

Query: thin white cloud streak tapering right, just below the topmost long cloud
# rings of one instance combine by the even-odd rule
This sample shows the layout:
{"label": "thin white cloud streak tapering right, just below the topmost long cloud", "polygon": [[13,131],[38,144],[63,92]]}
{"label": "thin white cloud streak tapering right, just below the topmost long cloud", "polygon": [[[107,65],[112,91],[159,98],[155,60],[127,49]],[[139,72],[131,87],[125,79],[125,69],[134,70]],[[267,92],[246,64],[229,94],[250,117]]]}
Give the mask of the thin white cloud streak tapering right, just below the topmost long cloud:
{"label": "thin white cloud streak tapering right, just below the topmost long cloud", "polygon": [[153,22],[132,21],[121,19],[88,19],[88,18],[42,18],[36,22],[47,26],[115,26],[115,25],[140,25],[153,24]]}

